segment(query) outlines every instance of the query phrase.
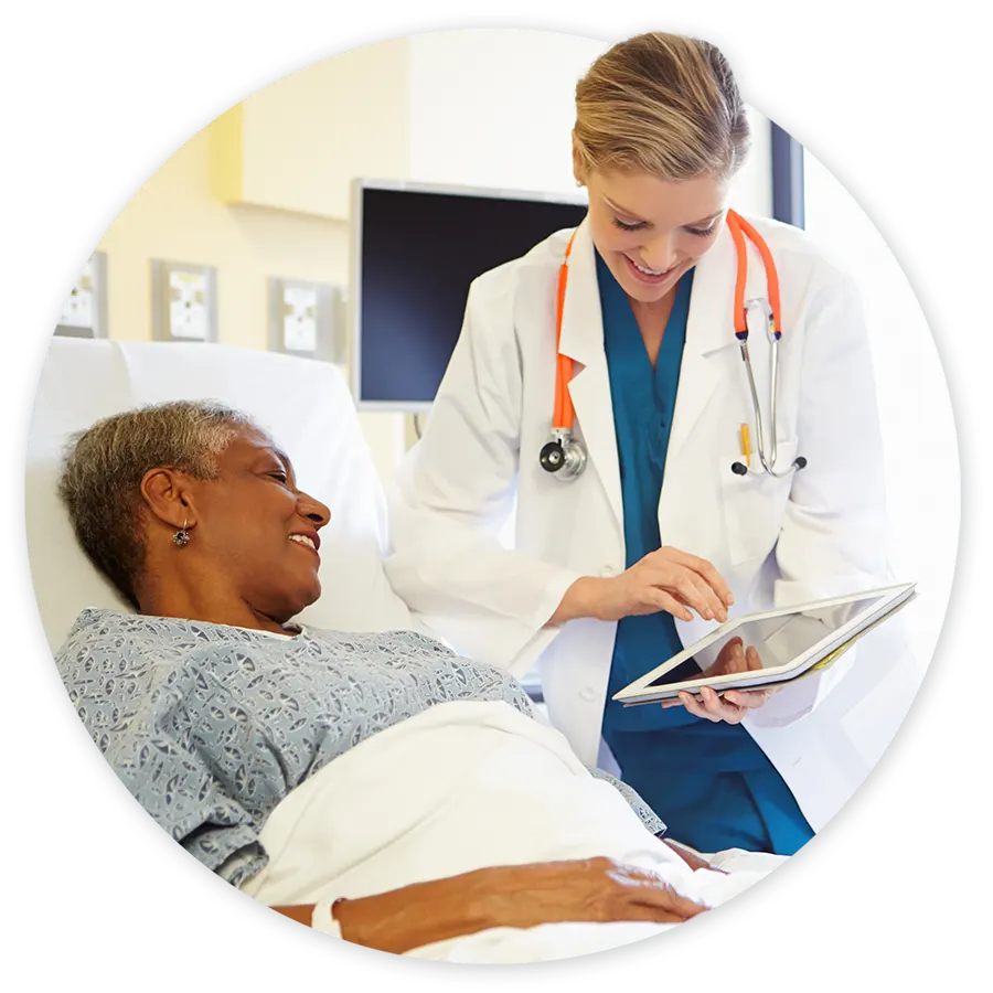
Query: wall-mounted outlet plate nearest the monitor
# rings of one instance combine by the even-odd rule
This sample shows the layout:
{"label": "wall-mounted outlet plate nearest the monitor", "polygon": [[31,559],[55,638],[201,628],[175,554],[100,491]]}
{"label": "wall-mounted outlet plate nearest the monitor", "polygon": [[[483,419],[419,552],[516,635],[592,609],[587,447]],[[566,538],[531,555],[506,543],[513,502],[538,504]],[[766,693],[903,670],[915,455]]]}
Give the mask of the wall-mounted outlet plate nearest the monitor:
{"label": "wall-mounted outlet plate nearest the monitor", "polygon": [[341,287],[270,278],[269,349],[343,365]]}

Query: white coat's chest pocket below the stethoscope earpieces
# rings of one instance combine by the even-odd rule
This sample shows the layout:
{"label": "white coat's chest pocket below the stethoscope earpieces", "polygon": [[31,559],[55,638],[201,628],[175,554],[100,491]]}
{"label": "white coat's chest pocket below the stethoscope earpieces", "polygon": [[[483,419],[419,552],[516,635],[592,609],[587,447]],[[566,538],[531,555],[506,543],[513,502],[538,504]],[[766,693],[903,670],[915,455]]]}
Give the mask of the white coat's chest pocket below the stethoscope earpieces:
{"label": "white coat's chest pocket below the stethoscope earpieces", "polygon": [[[797,457],[796,438],[779,441],[776,470],[786,471]],[[730,565],[761,563],[776,546],[794,473],[776,479],[762,469],[758,452],[751,455],[751,467],[744,476],[732,470],[735,462],[744,463],[740,452],[730,452],[717,467],[720,481],[720,502]]]}

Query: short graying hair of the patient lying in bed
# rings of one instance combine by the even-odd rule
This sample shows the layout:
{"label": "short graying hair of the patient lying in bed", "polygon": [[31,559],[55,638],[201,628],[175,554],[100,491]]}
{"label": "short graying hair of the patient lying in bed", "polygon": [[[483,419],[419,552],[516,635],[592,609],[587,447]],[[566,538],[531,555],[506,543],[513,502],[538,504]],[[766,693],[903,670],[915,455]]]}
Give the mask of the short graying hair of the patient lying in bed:
{"label": "short graying hair of the patient lying in bed", "polygon": [[223,404],[178,401],[106,417],[70,439],[58,496],[84,552],[134,607],[145,565],[138,506],[146,472],[169,467],[215,479],[217,456],[244,428],[261,430]]}

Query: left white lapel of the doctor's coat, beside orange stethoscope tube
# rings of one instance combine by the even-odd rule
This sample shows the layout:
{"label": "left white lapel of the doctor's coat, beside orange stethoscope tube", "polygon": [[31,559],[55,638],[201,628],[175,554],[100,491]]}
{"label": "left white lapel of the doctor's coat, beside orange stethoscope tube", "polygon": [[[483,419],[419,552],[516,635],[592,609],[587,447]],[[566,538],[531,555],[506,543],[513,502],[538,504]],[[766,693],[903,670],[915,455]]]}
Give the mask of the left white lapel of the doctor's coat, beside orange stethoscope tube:
{"label": "left white lapel of the doctor's coat, beside orange stethoscope tube", "polygon": [[569,395],[576,412],[576,434],[586,445],[590,465],[607,491],[610,509],[623,533],[617,435],[604,349],[596,256],[588,220],[579,225],[569,256],[559,351],[577,363],[569,383]]}

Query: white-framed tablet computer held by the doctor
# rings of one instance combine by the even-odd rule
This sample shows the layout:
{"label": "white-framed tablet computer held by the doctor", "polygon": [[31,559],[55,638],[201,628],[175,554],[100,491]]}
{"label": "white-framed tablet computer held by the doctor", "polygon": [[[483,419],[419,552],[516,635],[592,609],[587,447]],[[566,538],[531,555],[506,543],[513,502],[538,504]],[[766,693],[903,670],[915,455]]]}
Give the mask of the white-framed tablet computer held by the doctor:
{"label": "white-framed tablet computer held by the doctor", "polygon": [[840,654],[908,602],[915,588],[916,584],[905,583],[733,618],[613,700],[637,706],[672,700],[683,691],[696,695],[704,686],[726,693],[789,682]]}

